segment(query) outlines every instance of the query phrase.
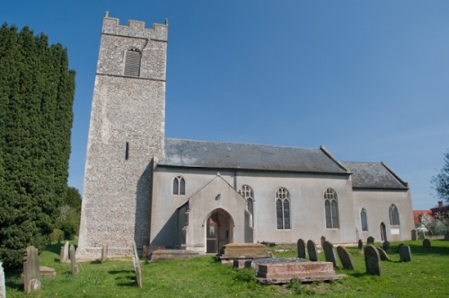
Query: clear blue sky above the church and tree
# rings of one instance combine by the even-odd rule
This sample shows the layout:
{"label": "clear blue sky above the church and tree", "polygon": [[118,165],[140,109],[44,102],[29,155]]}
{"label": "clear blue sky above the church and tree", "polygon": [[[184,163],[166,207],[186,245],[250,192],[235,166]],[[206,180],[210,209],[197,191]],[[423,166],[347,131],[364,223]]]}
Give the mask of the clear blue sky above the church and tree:
{"label": "clear blue sky above the church and tree", "polygon": [[385,162],[415,209],[449,148],[449,1],[2,1],[0,21],[68,48],[69,184],[83,188],[103,13],[163,23],[166,136],[317,148]]}

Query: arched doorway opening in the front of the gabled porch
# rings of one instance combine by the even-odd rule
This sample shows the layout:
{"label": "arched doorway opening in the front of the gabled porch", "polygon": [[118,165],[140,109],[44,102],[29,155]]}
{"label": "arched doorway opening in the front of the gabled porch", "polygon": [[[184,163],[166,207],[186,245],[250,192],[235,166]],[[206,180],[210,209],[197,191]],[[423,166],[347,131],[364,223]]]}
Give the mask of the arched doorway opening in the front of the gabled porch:
{"label": "arched doorway opening in the front of the gabled porch", "polygon": [[233,217],[223,209],[212,211],[206,218],[206,252],[219,253],[233,242]]}

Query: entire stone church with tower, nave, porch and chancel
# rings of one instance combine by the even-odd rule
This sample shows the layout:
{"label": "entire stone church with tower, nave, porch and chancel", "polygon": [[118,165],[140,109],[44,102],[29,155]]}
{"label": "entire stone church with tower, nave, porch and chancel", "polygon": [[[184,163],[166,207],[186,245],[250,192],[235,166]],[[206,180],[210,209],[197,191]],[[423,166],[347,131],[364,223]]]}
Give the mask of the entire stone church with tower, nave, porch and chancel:
{"label": "entire stone church with tower, nave, porch and chancel", "polygon": [[137,248],[219,253],[227,243],[404,241],[409,185],[383,162],[325,147],[165,137],[168,23],[105,13],[92,98],[77,259]]}

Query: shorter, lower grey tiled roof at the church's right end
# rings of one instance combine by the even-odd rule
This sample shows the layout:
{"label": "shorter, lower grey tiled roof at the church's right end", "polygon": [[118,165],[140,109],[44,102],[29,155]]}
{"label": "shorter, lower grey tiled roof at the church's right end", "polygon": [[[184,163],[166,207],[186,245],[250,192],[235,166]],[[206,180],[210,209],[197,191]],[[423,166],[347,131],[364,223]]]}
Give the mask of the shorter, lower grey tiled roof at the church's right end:
{"label": "shorter, lower grey tiled roof at the church's right end", "polygon": [[341,162],[352,171],[353,188],[408,189],[402,181],[383,162]]}

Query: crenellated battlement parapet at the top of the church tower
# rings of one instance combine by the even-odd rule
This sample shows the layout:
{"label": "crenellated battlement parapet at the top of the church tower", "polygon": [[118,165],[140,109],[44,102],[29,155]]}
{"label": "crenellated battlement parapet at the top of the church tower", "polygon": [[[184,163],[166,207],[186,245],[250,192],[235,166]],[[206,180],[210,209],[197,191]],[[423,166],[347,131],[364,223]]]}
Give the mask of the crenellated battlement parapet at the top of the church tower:
{"label": "crenellated battlement parapet at the top of the church tower", "polygon": [[111,18],[109,12],[106,12],[103,18],[102,33],[167,41],[168,22],[165,24],[154,23],[152,29],[145,28],[145,22],[134,20],[129,20],[128,25],[120,25],[119,18]]}

